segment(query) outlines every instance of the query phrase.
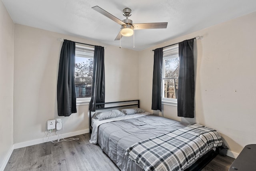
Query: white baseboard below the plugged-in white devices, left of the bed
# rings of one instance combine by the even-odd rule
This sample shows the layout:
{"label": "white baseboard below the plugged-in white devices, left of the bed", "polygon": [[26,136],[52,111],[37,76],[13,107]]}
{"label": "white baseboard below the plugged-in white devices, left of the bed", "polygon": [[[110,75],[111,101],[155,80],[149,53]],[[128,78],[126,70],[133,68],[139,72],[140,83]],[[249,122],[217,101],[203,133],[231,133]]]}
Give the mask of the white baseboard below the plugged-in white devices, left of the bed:
{"label": "white baseboard below the plugged-in white devices, left of the bed", "polygon": [[76,135],[81,135],[84,133],[89,133],[90,129],[84,129],[81,131],[75,131],[75,132],[70,132],[70,133],[64,133],[64,134],[60,134],[60,135],[54,135],[54,136],[50,136],[50,137],[44,137],[41,139],[35,139],[35,140],[31,140],[31,141],[26,141],[26,142],[22,142],[22,143],[16,143],[13,145],[14,149],[18,149],[18,148],[22,148],[22,147],[28,147],[30,145],[36,145],[36,144],[40,144],[40,143],[46,143],[49,141],[54,141],[58,138],[67,138],[67,137],[73,137]]}

